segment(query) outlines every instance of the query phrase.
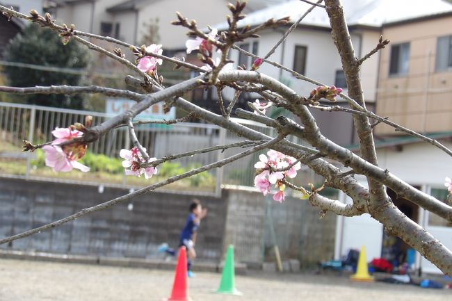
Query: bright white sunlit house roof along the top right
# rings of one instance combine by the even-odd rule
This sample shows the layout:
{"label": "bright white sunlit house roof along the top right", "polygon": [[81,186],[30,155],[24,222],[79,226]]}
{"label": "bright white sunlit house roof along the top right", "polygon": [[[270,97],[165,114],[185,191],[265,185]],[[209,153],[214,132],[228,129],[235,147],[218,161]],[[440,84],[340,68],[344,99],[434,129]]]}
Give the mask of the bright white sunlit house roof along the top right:
{"label": "bright white sunlit house roof along the top right", "polygon": [[[452,4],[443,0],[343,0],[348,26],[368,26],[379,28],[383,24],[407,19],[452,13]],[[255,26],[270,18],[280,19],[289,16],[296,22],[311,5],[299,0],[280,3],[250,13],[239,22],[239,27]],[[330,20],[323,8],[316,7],[300,24],[330,28]],[[227,29],[227,22],[216,24],[215,28]]]}

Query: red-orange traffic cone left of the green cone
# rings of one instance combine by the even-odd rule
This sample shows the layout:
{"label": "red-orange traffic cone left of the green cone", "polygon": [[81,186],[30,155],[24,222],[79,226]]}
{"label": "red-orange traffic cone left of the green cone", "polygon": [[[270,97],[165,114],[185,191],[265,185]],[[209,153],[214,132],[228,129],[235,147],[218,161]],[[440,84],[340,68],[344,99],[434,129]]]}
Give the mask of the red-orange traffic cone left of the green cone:
{"label": "red-orange traffic cone left of the green cone", "polygon": [[187,251],[185,246],[179,249],[179,257],[177,258],[175,282],[172,284],[171,297],[164,299],[165,301],[191,301],[188,298],[187,287]]}

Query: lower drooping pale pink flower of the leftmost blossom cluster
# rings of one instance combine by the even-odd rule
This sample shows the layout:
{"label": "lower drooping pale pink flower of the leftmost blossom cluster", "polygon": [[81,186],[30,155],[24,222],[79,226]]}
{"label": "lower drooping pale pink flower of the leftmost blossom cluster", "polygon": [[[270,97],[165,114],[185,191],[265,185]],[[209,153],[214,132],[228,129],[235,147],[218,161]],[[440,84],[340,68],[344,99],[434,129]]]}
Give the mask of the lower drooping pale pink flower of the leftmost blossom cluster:
{"label": "lower drooping pale pink flower of the leftmost blossom cluster", "polygon": [[54,169],[55,172],[70,172],[73,168],[88,172],[90,168],[77,161],[74,156],[69,156],[57,145],[45,145],[42,147],[45,152],[45,165]]}

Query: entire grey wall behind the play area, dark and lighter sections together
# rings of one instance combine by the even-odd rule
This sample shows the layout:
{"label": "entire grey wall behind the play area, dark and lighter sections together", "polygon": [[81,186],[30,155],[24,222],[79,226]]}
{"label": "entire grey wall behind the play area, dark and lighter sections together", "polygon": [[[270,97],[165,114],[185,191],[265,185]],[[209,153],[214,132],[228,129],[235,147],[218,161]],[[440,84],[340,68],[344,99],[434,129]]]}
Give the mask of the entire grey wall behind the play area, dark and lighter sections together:
{"label": "entire grey wall behind the play area, dark and lighter sections together", "polygon": [[[0,179],[0,237],[18,234],[58,220],[88,206],[127,193],[118,188]],[[267,213],[273,218],[282,259],[300,259],[304,266],[332,258],[334,215],[318,219],[318,209],[286,197],[275,203],[255,190],[223,189],[221,198],[197,197],[209,209],[197,237],[200,260],[219,261],[229,243],[236,260],[274,261]],[[136,197],[134,209],[120,204],[92,213],[51,231],[0,245],[27,250],[106,257],[156,258],[160,243],[177,247],[192,197],[150,193]]]}

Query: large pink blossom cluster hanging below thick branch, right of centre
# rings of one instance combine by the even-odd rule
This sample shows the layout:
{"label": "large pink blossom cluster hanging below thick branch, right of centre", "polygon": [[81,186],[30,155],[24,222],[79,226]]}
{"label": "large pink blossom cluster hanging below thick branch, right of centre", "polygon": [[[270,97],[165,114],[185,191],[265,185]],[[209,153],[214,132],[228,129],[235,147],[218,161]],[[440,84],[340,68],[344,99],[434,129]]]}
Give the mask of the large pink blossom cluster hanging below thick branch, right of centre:
{"label": "large pink blossom cluster hanging below thick branch, right of centre", "polygon": [[274,185],[277,192],[273,193],[273,200],[283,202],[284,190],[286,189],[284,180],[286,177],[296,177],[297,170],[301,168],[301,163],[296,162],[296,158],[270,149],[267,156],[265,154],[259,155],[259,161],[255,164],[255,168],[257,169],[255,187],[261,193],[267,195],[271,193],[271,186]]}

